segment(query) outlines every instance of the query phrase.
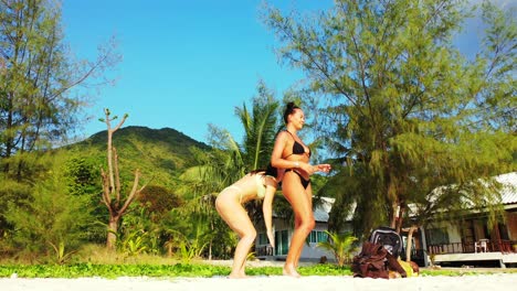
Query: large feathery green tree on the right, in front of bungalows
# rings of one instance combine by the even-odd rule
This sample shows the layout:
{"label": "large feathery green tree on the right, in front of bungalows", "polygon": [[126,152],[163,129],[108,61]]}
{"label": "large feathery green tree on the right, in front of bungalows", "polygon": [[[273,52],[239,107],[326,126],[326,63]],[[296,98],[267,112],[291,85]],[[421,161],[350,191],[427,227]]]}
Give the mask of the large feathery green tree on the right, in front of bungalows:
{"label": "large feathery green tree on the right, in front of bungalows", "polygon": [[354,205],[357,233],[400,229],[416,195],[477,179],[487,184],[468,194],[497,201],[492,176],[515,170],[515,18],[486,4],[485,53],[468,60],[453,44],[466,4],[337,0],[313,17],[266,7],[281,56],[320,97],[316,132],[341,169],[326,190],[336,191],[331,222]]}

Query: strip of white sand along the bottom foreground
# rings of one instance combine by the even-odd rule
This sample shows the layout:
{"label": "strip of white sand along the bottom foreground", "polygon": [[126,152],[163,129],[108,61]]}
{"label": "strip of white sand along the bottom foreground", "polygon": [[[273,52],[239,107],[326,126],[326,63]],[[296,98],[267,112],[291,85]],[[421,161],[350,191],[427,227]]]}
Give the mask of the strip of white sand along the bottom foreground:
{"label": "strip of white sand along the bottom foreground", "polygon": [[476,274],[462,277],[413,277],[400,279],[361,279],[350,276],[256,276],[246,279],[217,278],[145,278],[117,279],[24,279],[1,278],[2,291],[330,291],[330,290],[515,290],[517,273]]}

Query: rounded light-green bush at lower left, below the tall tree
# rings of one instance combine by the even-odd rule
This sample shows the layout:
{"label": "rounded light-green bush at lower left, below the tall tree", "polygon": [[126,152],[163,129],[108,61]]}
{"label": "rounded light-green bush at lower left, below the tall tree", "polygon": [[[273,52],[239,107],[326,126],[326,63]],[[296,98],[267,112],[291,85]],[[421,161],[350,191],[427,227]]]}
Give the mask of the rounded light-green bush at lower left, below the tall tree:
{"label": "rounded light-green bush at lower left, below the tall tree", "polygon": [[[59,168],[55,170],[59,171]],[[13,226],[9,236],[27,254],[55,252],[57,262],[78,248],[93,224],[88,197],[71,195],[60,172],[51,172],[18,204],[9,203],[6,219]]]}

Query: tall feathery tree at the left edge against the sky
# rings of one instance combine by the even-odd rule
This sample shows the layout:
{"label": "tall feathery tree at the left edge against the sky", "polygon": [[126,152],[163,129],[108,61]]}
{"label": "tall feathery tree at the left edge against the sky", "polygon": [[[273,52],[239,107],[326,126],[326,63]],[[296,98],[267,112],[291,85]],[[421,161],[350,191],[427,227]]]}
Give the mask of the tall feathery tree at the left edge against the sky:
{"label": "tall feathery tree at the left edge against the sky", "polygon": [[106,84],[102,73],[120,58],[112,42],[96,61],[74,61],[59,1],[0,1],[0,165],[21,181],[41,169],[28,154],[65,140],[87,88]]}

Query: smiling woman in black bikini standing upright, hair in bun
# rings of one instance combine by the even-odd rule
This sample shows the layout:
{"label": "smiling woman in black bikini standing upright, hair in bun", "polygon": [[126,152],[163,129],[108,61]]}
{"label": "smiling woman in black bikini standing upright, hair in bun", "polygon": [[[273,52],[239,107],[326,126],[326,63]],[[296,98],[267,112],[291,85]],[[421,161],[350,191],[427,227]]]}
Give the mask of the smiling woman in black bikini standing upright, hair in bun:
{"label": "smiling woman in black bikini standing upright, hair in bun", "polygon": [[313,188],[310,175],[315,172],[328,172],[329,164],[309,164],[310,149],[298,138],[298,130],[304,127],[304,111],[294,103],[287,104],[284,111],[286,130],[276,136],[271,157],[271,164],[286,169],[282,182],[282,193],[293,207],[295,228],[283,273],[299,277],[296,271],[305,239],[315,226],[313,214]]}

